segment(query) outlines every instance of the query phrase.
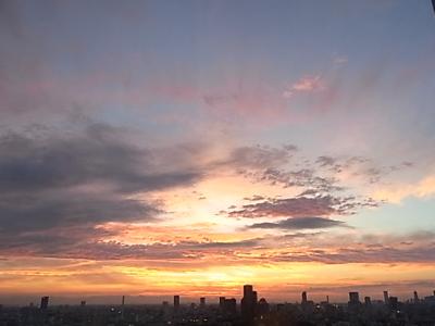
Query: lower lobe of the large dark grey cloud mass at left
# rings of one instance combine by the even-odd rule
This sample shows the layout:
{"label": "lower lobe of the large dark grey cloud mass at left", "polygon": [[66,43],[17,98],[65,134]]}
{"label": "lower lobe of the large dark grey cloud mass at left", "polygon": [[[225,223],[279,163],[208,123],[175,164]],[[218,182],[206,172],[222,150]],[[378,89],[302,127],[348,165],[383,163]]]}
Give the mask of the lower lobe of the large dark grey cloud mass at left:
{"label": "lower lobe of the large dark grey cloud mass at left", "polygon": [[8,197],[0,201],[0,234],[116,221],[149,221],[161,213],[154,205],[112,193],[69,191]]}

